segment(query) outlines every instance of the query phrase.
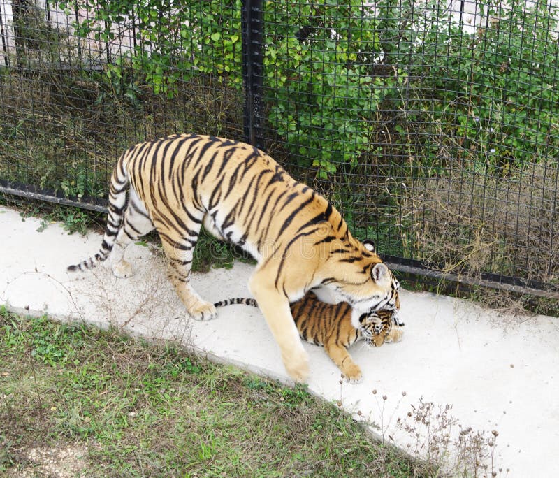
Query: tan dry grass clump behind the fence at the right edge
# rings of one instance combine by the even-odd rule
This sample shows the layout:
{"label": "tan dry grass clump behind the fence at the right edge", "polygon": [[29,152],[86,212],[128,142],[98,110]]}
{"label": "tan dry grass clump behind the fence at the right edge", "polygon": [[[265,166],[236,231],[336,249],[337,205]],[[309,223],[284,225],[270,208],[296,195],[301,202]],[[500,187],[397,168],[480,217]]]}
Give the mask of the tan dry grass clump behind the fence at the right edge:
{"label": "tan dry grass clump behind the fence at the right edge", "polygon": [[559,284],[558,180],[556,164],[505,178],[451,171],[416,182],[402,208],[409,211],[416,249],[434,267]]}

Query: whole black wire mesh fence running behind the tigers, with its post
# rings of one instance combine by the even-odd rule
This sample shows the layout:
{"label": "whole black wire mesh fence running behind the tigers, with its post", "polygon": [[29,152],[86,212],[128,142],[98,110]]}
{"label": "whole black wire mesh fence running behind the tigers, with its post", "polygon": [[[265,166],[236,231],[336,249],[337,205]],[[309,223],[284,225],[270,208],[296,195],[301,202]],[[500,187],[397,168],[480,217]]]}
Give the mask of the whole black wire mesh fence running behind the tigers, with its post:
{"label": "whole black wire mesh fence running behind the tigers, with its post", "polygon": [[259,145],[394,268],[559,297],[555,1],[0,0],[0,190],[103,209],[133,143]]}

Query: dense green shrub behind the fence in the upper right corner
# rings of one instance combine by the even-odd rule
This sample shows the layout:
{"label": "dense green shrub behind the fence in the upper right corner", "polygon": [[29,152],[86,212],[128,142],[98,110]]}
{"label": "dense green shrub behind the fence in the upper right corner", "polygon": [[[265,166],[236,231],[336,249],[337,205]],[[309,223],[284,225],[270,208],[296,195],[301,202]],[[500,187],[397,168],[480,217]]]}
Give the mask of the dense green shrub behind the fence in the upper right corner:
{"label": "dense green shrub behind the fence in the upper right corner", "polygon": [[393,98],[392,109],[403,108],[412,126],[396,122],[400,137],[393,143],[414,145],[426,164],[447,167],[463,159],[478,173],[507,173],[559,147],[556,6],[483,1],[483,24],[468,33],[439,1],[428,1],[424,17],[414,21],[407,20],[413,17],[409,2],[393,17],[394,3],[379,4],[379,36],[397,42],[382,47],[389,62],[405,65],[409,85],[407,101]]}

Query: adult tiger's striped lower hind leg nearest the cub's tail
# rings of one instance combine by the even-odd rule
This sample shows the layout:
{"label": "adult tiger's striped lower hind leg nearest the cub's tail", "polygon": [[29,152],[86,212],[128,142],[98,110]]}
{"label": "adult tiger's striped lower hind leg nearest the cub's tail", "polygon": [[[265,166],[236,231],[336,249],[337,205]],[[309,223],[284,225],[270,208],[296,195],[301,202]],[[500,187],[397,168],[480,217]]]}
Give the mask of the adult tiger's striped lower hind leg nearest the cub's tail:
{"label": "adult tiger's striped lower hind leg nearest the cub's tail", "polygon": [[215,306],[203,300],[190,285],[190,269],[194,246],[198,240],[197,229],[191,229],[187,238],[173,241],[160,234],[163,249],[167,256],[167,271],[170,281],[175,286],[178,296],[187,312],[194,320],[210,320],[217,317]]}

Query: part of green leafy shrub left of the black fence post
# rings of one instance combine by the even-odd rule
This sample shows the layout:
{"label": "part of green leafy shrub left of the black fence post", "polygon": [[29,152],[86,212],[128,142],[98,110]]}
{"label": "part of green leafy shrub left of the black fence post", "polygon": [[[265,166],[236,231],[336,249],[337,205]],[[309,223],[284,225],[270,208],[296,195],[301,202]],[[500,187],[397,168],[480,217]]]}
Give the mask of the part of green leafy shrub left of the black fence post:
{"label": "part of green leafy shrub left of the black fence post", "polygon": [[[107,75],[120,78],[124,68],[143,75],[155,94],[173,98],[177,81],[199,73],[222,75],[240,67],[241,0],[184,2],[170,0],[59,1],[73,13],[87,12],[74,22],[75,34],[107,45]],[[126,45],[111,52],[111,45]],[[114,61],[110,56],[114,55]],[[204,59],[211,59],[205,64]]]}

